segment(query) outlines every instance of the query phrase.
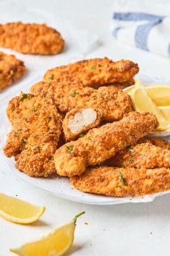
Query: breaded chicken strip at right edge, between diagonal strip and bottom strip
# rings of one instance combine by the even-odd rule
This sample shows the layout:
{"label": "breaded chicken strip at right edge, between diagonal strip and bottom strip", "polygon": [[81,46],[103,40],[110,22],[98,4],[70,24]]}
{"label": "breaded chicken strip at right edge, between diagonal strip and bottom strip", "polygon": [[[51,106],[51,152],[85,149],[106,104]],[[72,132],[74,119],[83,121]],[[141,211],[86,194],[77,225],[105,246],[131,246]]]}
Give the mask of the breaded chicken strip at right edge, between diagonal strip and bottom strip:
{"label": "breaded chicken strip at right edge, between diagonal strip and bottom strip", "polygon": [[170,167],[170,150],[161,147],[163,141],[159,138],[156,142],[160,146],[153,145],[150,139],[142,138],[136,144],[118,151],[107,161],[107,165],[138,169]]}

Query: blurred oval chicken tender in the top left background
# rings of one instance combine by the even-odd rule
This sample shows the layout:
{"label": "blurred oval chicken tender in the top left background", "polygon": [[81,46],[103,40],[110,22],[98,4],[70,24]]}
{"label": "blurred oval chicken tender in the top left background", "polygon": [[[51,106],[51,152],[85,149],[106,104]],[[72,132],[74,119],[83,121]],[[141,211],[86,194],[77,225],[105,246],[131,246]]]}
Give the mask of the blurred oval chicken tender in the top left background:
{"label": "blurred oval chicken tender in the top left background", "polygon": [[22,54],[59,54],[64,47],[61,34],[45,24],[12,22],[0,24],[0,46]]}

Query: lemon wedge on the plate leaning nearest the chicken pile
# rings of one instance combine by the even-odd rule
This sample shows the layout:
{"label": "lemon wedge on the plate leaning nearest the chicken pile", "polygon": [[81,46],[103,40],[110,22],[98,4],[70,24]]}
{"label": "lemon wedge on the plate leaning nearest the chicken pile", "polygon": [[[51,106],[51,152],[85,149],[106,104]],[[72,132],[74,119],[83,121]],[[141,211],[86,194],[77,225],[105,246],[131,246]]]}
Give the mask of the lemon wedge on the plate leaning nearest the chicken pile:
{"label": "lemon wedge on the plate leaning nearest the chicken pile", "polygon": [[142,82],[140,79],[137,79],[137,81],[135,82],[134,89],[131,90],[130,96],[131,96],[134,110],[139,112],[148,111],[155,114],[159,122],[159,126],[156,130],[170,129],[169,122],[166,121],[166,119],[164,118],[159,108],[151,100],[151,98],[147,94],[147,91],[142,85]]}

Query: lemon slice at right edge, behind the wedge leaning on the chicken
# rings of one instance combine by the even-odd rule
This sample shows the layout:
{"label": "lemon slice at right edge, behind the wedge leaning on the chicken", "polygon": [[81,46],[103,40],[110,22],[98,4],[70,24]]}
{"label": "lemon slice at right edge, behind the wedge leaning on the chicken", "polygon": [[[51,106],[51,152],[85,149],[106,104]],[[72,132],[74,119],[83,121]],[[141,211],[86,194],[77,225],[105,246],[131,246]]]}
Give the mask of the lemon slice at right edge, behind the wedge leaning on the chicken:
{"label": "lemon slice at right edge, behind the wedge leaning on the chicken", "polygon": [[153,86],[147,86],[146,84],[145,89],[156,106],[170,105],[170,85],[155,84]]}

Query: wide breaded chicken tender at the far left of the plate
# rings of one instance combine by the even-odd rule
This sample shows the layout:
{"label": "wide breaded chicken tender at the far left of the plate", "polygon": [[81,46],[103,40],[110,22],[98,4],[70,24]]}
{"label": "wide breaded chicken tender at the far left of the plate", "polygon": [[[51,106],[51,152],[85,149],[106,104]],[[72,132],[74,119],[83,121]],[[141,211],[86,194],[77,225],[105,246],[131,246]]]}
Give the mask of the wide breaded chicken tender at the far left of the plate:
{"label": "wide breaded chicken tender at the far left of the plate", "polygon": [[4,153],[15,156],[17,169],[29,176],[55,172],[53,155],[61,134],[61,118],[52,100],[21,94],[7,107],[12,124]]}

